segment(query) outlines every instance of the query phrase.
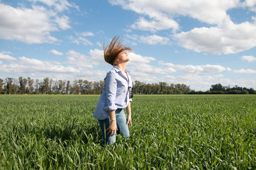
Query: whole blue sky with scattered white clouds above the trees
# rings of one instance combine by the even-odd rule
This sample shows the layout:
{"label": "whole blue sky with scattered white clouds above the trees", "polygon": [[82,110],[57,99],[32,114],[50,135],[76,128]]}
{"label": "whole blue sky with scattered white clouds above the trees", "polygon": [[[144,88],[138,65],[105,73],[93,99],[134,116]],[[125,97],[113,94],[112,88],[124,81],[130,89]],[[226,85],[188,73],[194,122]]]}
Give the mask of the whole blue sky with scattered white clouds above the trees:
{"label": "whole blue sky with scattered white clouds above the trees", "polygon": [[132,80],[256,89],[255,0],[0,0],[0,78],[103,80],[114,36]]}

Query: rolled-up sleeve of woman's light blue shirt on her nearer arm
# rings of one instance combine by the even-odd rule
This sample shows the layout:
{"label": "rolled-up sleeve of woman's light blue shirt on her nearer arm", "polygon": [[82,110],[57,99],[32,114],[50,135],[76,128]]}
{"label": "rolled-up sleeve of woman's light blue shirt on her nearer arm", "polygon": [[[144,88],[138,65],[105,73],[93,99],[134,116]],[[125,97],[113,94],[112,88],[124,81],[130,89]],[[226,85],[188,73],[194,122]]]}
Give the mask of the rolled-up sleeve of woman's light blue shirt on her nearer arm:
{"label": "rolled-up sleeve of woman's light blue shirt on her nearer arm", "polygon": [[116,79],[115,74],[109,72],[105,78],[105,85],[106,85],[106,107],[104,110],[111,111],[116,110],[117,107],[115,105],[116,99]]}

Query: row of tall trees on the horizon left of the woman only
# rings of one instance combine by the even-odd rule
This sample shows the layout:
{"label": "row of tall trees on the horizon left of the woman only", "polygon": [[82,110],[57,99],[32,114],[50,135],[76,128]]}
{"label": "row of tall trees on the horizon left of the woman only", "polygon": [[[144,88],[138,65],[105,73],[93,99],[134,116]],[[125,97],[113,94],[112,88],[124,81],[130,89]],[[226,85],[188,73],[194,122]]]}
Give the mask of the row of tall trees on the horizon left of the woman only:
{"label": "row of tall trees on the horizon left of the woman only", "polygon": [[104,81],[0,78],[1,94],[100,94]]}

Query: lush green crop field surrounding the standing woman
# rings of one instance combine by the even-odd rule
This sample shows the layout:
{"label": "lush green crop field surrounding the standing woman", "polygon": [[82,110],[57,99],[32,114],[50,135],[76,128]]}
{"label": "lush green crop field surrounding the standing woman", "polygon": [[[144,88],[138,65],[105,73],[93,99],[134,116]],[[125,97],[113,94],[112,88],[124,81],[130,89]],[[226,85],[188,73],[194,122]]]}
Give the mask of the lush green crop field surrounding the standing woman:
{"label": "lush green crop field surrounding the standing woman", "polygon": [[255,169],[256,96],[134,96],[102,147],[99,96],[0,96],[0,169]]}

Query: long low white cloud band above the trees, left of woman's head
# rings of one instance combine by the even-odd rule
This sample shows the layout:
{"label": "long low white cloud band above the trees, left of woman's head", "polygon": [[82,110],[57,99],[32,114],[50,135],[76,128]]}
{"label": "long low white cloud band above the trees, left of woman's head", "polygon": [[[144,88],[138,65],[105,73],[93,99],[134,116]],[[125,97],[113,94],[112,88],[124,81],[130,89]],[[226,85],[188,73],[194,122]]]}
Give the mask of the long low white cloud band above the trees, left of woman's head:
{"label": "long low white cloud band above the trees, left of woman's head", "polygon": [[[1,52],[1,54],[6,55],[5,53],[9,52]],[[18,57],[15,59],[8,55],[7,57],[4,56],[4,60],[8,61],[8,64],[4,64],[0,60],[0,73],[14,73],[17,76],[27,75],[31,76],[31,78],[49,77],[63,80],[86,79],[99,81],[104,78],[106,71],[92,69],[92,67],[99,64],[99,57],[100,55],[102,57],[102,53],[102,50],[94,49],[90,50],[90,56],[86,56],[74,50],[69,50],[65,54],[68,62],[64,63],[65,65],[68,63],[68,66],[63,66],[62,63],[53,60],[38,60],[28,57]]]}

